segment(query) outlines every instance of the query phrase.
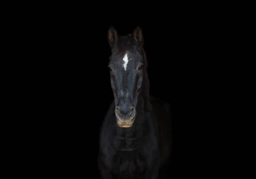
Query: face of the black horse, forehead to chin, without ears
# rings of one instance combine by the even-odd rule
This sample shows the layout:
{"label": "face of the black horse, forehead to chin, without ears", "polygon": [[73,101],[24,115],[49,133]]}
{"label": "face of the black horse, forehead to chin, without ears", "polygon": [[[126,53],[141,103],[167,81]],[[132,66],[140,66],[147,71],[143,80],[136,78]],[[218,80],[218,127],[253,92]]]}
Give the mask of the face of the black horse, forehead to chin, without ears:
{"label": "face of the black horse, forehead to chin, without ears", "polygon": [[130,128],[135,120],[143,81],[143,57],[133,36],[118,38],[118,43],[112,48],[109,69],[117,125]]}

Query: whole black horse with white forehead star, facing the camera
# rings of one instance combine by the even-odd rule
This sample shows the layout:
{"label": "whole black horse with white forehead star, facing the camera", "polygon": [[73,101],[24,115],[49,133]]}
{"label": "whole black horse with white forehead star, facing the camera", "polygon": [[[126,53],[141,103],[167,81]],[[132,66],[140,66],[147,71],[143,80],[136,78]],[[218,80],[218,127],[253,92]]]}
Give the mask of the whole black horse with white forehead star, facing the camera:
{"label": "whole black horse with white forehead star, facing the camera", "polygon": [[102,123],[98,165],[102,179],[157,179],[169,160],[169,104],[149,95],[143,34],[108,30],[112,102]]}

